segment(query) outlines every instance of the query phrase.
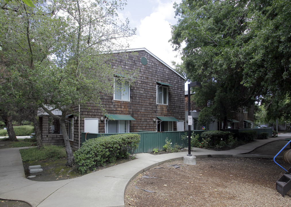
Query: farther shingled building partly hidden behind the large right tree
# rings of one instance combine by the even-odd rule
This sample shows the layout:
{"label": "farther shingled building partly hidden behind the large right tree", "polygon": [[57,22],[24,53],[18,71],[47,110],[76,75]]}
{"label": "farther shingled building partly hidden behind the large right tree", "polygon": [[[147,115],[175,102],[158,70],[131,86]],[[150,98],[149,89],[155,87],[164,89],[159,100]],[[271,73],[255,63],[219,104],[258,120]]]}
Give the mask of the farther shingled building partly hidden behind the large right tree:
{"label": "farther shingled building partly hidden behind the large right tree", "polygon": [[[220,122],[210,124],[198,124],[199,112],[203,107],[198,107],[195,102],[191,101],[191,116],[194,118],[191,130],[221,130],[226,129],[244,129],[253,128],[254,107],[244,107],[241,112],[233,112],[233,116],[229,117],[227,125]],[[188,91],[185,91],[185,130],[188,130]],[[195,121],[196,120],[196,121]]]}

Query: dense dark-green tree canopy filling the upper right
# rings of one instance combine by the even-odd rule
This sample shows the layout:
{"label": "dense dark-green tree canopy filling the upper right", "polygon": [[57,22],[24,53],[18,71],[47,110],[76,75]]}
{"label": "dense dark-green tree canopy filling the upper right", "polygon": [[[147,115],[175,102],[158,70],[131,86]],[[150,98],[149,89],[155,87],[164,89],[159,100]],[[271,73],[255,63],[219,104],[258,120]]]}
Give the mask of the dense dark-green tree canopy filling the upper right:
{"label": "dense dark-green tree canopy filling the upper right", "polygon": [[225,122],[229,112],[255,100],[270,103],[274,96],[290,94],[288,5],[283,0],[175,4],[178,23],[170,41],[175,50],[181,49],[180,70],[190,81],[203,83],[196,89],[197,102],[205,105],[207,98],[213,103],[199,118],[212,115]]}

